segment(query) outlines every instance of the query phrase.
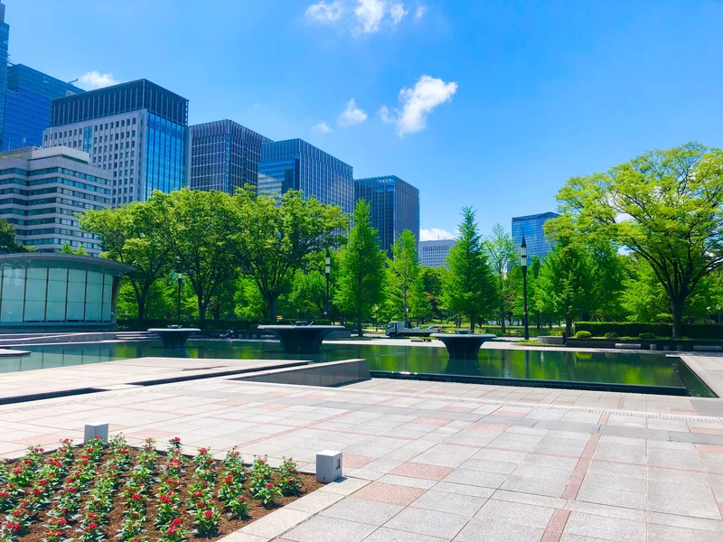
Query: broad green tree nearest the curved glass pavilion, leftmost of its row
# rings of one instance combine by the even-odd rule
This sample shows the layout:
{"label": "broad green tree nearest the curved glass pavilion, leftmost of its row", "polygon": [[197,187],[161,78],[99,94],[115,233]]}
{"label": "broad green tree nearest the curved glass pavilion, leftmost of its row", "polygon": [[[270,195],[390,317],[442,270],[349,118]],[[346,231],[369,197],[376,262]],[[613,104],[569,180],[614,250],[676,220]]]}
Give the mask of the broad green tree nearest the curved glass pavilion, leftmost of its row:
{"label": "broad green tree nearest the curved glass pavilion, leftmost of its row", "polygon": [[151,204],[136,201],[116,209],[87,210],[80,215],[80,227],[99,236],[101,257],[136,267],[124,280],[136,298],[137,310],[132,313],[143,321],[151,287],[168,274],[172,261]]}

